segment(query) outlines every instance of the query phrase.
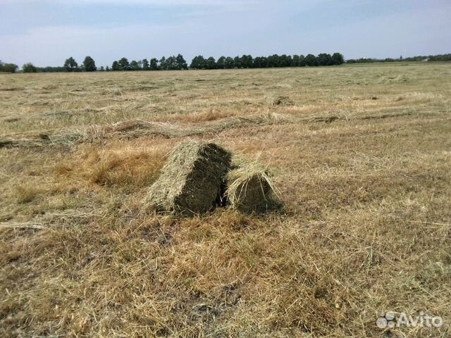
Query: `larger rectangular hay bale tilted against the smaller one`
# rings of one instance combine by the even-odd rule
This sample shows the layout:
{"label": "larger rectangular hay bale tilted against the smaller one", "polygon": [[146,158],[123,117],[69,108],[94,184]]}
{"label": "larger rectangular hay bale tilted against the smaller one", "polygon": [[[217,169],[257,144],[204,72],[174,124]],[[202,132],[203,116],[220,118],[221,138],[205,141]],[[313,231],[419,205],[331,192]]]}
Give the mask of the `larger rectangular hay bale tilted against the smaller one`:
{"label": "larger rectangular hay bale tilted against the smaller one", "polygon": [[149,188],[146,208],[187,215],[209,211],[221,198],[230,158],[228,151],[214,143],[178,144]]}

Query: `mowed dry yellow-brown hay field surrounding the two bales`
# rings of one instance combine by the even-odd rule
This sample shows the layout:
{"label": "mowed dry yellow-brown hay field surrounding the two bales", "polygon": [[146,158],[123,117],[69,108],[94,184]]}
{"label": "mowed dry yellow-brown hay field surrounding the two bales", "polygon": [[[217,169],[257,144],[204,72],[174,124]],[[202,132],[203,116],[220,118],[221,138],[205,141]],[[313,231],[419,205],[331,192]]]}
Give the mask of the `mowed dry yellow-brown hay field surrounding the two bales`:
{"label": "mowed dry yellow-brown hay field surrounding the two bales", "polygon": [[[450,337],[450,98],[450,63],[0,75],[0,336]],[[143,212],[188,138],[283,208]]]}

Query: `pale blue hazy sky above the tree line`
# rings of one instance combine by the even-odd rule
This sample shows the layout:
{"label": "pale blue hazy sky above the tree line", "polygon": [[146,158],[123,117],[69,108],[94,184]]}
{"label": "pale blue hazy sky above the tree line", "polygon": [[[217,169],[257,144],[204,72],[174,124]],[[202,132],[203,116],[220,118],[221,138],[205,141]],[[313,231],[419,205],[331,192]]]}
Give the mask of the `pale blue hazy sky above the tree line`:
{"label": "pale blue hazy sky above the tree line", "polygon": [[0,0],[0,60],[451,53],[451,0]]}

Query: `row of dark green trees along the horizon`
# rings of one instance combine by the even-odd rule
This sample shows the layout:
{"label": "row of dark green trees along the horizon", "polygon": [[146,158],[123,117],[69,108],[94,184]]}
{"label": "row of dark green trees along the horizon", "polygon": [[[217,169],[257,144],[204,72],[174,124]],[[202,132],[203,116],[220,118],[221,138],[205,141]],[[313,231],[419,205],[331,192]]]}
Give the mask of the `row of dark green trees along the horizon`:
{"label": "row of dark green trees along the horizon", "polygon": [[[121,70],[186,70],[191,69],[233,69],[233,68],[274,68],[274,67],[314,67],[324,65],[341,65],[342,63],[375,63],[375,62],[414,62],[414,61],[451,61],[451,54],[438,54],[430,56],[412,56],[408,58],[358,58],[348,59],[340,53],[334,53],[332,55],[321,53],[317,56],[313,54],[303,55],[278,55],[273,54],[271,56],[257,56],[251,55],[235,56],[221,56],[217,60],[210,56],[204,58],[204,56],[195,56],[190,66],[188,67],[185,58],[181,54],[177,56],[169,56],[168,58],[144,58],[142,60],[128,61],[128,58],[121,58],[118,61],[114,61],[110,66],[101,66],[97,68],[94,59],[91,56],[86,56],[85,60],[79,65],[73,57],[67,58],[62,66],[57,67],[36,67],[32,63],[25,63],[22,66],[21,71],[23,73],[50,73],[50,72],[94,72],[99,71],[121,71]],[[16,73],[18,71],[18,65],[14,63],[3,63],[0,61],[0,73]]]}

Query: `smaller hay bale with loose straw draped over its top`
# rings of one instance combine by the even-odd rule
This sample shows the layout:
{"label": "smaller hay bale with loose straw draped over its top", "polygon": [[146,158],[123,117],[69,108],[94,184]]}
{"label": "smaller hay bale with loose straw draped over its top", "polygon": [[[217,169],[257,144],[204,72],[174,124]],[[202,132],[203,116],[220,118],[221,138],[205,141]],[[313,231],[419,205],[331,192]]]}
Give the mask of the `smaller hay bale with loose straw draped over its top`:
{"label": "smaller hay bale with loose straw draped over its top", "polygon": [[278,206],[273,198],[272,174],[257,161],[242,163],[227,176],[226,198],[232,208],[244,213],[264,212]]}

